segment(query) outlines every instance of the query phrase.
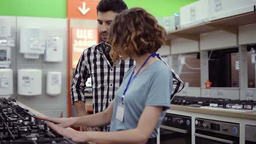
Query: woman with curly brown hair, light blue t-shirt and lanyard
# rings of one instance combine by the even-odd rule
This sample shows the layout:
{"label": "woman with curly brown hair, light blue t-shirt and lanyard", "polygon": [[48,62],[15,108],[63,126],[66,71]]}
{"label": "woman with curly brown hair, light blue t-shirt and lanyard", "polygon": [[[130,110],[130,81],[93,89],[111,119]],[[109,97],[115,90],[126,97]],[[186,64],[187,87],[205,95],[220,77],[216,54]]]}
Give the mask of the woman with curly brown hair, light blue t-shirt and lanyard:
{"label": "woman with curly brown hair, light blue t-shirt and lanyard", "polygon": [[[125,10],[115,17],[109,32],[114,64],[128,57],[136,61],[125,74],[106,111],[71,118],[38,117],[55,124],[49,127],[77,142],[155,143],[162,119],[170,107],[172,71],[156,51],[166,32],[154,16],[142,8]],[[110,123],[110,132],[73,131],[74,127],[100,127]]]}

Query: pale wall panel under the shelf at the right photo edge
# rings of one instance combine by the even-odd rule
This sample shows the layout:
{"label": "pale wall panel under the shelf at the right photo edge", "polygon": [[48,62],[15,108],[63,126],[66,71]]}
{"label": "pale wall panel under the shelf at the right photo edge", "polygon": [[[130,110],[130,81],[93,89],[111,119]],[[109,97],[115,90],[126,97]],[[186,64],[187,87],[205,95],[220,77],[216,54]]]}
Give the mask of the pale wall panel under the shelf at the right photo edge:
{"label": "pale wall panel under the shelf at the right photo edge", "polygon": [[256,43],[256,23],[238,27],[238,33],[240,45]]}

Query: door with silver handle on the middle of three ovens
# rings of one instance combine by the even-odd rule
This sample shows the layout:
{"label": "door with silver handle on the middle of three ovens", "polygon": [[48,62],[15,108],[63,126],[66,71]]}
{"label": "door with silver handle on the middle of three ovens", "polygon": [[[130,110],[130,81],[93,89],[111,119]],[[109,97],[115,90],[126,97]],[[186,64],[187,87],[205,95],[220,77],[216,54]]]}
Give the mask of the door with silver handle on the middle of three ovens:
{"label": "door with silver handle on the middle of three ovens", "polygon": [[211,133],[208,131],[196,131],[195,133],[196,144],[226,144],[226,143],[239,143],[239,138],[234,136],[222,135],[217,133]]}

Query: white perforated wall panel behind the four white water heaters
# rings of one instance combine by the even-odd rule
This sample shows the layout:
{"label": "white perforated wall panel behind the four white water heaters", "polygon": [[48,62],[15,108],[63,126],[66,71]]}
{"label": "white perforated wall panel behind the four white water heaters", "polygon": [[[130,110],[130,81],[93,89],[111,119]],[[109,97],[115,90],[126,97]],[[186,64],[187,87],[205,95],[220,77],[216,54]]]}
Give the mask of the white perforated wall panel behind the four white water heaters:
{"label": "white perforated wall panel behind the four white water heaters", "polygon": [[[27,97],[24,95],[14,95],[21,103],[31,107],[34,110],[50,117],[67,116],[67,58],[63,58],[62,62],[45,62],[44,56],[40,55],[39,59],[26,59],[23,53],[19,53],[20,49],[20,28],[21,27],[40,27],[43,28],[46,38],[51,36],[63,39],[63,57],[67,57],[67,19],[54,19],[44,17],[17,17],[17,43],[15,47],[15,71],[24,69],[42,69],[42,94],[39,96]],[[62,86],[60,95],[52,97],[46,94],[46,74],[48,71],[61,71]],[[15,86],[16,87],[16,86]]]}

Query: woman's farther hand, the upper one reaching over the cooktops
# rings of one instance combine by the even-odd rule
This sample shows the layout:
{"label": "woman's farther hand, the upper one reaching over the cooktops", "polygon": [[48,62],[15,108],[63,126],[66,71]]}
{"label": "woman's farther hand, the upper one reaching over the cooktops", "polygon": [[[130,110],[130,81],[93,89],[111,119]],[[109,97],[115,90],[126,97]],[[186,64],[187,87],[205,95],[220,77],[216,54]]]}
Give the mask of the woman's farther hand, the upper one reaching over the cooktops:
{"label": "woman's farther hand, the upper one reaching over the cooktops", "polygon": [[[51,117],[36,116],[36,118],[55,123],[57,126],[62,127],[62,128],[70,127],[71,125],[73,125],[75,123],[75,118],[74,117],[70,117],[70,118],[51,118]],[[75,125],[73,125],[73,126],[75,127]]]}

